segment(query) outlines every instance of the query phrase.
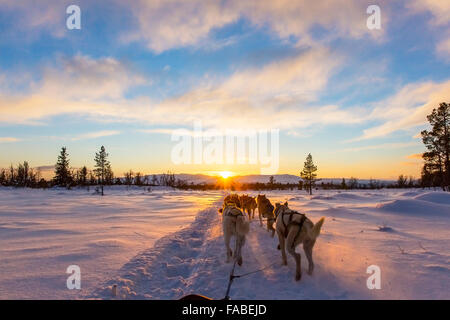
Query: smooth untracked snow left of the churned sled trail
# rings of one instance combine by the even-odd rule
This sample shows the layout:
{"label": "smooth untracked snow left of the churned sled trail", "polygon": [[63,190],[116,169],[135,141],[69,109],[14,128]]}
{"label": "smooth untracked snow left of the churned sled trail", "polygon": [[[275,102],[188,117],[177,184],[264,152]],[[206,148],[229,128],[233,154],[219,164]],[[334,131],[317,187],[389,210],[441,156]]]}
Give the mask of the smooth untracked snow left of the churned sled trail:
{"label": "smooth untracked snow left of the churned sled trail", "polygon": [[[78,298],[221,196],[126,187],[93,193],[0,188],[1,299]],[[69,265],[81,268],[81,292],[66,287]]]}

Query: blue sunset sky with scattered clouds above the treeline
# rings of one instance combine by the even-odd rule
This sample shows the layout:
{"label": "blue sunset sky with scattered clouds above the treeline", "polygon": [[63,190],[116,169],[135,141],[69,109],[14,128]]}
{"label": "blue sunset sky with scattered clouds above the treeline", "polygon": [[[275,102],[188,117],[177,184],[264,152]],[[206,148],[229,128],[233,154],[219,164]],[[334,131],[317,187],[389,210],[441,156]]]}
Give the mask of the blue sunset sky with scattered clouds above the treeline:
{"label": "blue sunset sky with scattered clouds above the treeline", "polygon": [[200,123],[279,130],[273,173],[311,153],[319,177],[418,178],[449,71],[448,0],[0,0],[0,167],[51,171],[66,146],[92,168],[104,145],[116,176],[261,172],[174,161],[174,131]]}

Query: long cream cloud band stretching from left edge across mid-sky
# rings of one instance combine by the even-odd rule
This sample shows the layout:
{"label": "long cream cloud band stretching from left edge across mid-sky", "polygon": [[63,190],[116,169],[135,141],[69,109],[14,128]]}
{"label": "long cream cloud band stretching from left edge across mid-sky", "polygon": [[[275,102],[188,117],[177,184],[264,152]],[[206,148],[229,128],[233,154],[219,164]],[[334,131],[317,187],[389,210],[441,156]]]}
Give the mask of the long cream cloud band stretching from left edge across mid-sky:
{"label": "long cream cloud band stretching from left edge across mid-sky", "polygon": [[319,47],[154,102],[146,96],[126,97],[130,88],[148,81],[119,61],[76,56],[63,61],[62,70],[45,68],[42,81],[29,93],[0,94],[0,119],[32,123],[77,114],[94,121],[157,125],[192,126],[202,121],[205,127],[218,129],[359,123],[365,116],[362,110],[316,103],[342,61],[341,56]]}

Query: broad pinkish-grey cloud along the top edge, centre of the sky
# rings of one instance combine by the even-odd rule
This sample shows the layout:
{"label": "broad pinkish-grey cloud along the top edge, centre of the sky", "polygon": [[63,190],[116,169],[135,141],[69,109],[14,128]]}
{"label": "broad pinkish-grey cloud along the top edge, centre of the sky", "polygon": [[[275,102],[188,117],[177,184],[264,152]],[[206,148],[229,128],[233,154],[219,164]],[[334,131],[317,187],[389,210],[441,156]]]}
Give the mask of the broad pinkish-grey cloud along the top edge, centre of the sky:
{"label": "broad pinkish-grey cloud along the top edge, centre of the sky", "polygon": [[[328,31],[328,38],[380,37],[383,31],[371,33],[366,27],[369,4],[367,0],[211,0],[207,4],[203,0],[139,0],[131,4],[138,28],[128,30],[123,40],[142,41],[157,53],[202,43],[208,48],[214,42],[212,31],[239,19],[282,39],[295,37],[301,44],[315,42],[312,29],[317,26]],[[388,12],[387,8],[383,12],[385,25]]]}

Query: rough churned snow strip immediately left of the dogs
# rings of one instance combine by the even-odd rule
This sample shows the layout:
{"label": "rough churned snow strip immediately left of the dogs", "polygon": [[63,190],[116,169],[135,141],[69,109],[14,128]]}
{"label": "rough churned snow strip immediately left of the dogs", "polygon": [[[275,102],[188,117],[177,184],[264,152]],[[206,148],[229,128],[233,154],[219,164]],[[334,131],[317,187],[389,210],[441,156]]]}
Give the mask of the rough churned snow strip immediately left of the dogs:
{"label": "rough churned snow strip immediately left of the dogs", "polygon": [[210,225],[217,218],[217,207],[201,210],[186,228],[159,239],[155,245],[127,262],[117,276],[103,283],[87,298],[178,299],[195,275]]}

